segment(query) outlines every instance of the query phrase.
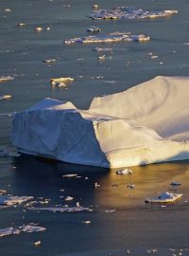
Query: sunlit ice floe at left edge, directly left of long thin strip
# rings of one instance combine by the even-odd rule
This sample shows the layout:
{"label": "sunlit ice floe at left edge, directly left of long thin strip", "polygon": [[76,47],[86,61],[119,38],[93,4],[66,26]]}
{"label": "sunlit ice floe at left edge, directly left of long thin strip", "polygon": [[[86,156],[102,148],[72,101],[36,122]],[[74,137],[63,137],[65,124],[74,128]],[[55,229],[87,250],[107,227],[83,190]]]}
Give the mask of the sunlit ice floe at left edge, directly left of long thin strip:
{"label": "sunlit ice floe at left edge, directly left of long thin strip", "polygon": [[0,206],[20,205],[31,199],[33,196],[0,195]]}

